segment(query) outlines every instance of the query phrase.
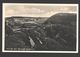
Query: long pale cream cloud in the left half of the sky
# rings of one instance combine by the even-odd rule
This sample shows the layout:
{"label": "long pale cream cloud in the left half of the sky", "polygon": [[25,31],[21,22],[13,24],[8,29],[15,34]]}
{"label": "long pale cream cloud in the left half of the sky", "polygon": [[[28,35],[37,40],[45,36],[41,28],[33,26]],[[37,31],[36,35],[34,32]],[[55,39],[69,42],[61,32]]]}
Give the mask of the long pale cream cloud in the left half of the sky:
{"label": "long pale cream cloud in the left half of the sky", "polygon": [[41,14],[45,13],[45,10],[39,8],[28,8],[24,6],[9,6],[5,8],[6,15],[18,15],[18,14]]}

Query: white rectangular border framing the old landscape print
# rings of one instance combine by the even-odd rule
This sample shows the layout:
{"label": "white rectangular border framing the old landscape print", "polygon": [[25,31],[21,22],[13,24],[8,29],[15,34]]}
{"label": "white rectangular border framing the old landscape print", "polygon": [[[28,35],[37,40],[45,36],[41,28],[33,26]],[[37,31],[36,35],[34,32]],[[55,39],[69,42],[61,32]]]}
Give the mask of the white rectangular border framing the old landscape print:
{"label": "white rectangular border framing the old landscape print", "polygon": [[[77,6],[77,23],[76,23],[76,51],[6,51],[4,49],[5,47],[5,5],[35,5],[35,6]],[[79,21],[79,14],[78,14],[78,9],[79,5],[78,4],[41,4],[41,3],[3,3],[2,4],[2,13],[3,13],[3,18],[2,18],[2,52],[18,52],[18,53],[78,53],[78,45],[79,45],[79,38],[78,38],[78,21]]]}

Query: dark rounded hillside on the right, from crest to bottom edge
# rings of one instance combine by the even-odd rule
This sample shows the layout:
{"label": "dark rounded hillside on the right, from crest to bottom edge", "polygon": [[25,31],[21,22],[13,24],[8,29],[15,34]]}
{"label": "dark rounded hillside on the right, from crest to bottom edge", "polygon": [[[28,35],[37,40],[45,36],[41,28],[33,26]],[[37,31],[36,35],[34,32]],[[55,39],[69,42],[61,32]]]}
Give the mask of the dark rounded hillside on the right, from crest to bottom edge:
{"label": "dark rounded hillside on the right, from crest to bottom edge", "polygon": [[[55,48],[56,50],[75,50],[76,46],[76,14],[73,13],[58,13],[46,20],[45,31],[47,37],[53,39],[53,42],[56,41]],[[48,40],[48,48],[53,50],[54,45],[51,41]],[[57,43],[58,45],[56,48]],[[53,46],[53,47],[52,47]]]}

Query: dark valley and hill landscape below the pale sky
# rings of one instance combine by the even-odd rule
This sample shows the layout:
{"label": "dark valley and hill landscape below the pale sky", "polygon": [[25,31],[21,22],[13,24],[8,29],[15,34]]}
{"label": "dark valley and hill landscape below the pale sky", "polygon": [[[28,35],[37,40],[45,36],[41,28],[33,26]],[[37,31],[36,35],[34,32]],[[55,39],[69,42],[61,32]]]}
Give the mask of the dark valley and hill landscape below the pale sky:
{"label": "dark valley and hill landscape below the pale sky", "polygon": [[58,13],[32,23],[24,21],[25,18],[23,21],[11,20],[6,19],[6,48],[76,50],[76,14]]}

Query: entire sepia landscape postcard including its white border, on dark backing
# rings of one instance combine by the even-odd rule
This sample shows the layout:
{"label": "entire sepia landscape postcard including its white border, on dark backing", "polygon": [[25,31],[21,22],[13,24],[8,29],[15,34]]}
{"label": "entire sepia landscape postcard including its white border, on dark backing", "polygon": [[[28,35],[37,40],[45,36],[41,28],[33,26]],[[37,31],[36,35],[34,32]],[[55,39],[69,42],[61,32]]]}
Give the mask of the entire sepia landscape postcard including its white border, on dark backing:
{"label": "entire sepia landscape postcard including its white border, on dark backing", "polygon": [[78,4],[3,3],[2,52],[78,53]]}

